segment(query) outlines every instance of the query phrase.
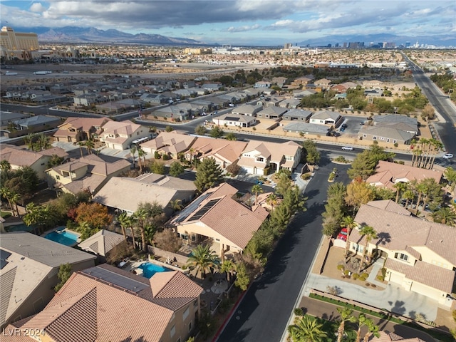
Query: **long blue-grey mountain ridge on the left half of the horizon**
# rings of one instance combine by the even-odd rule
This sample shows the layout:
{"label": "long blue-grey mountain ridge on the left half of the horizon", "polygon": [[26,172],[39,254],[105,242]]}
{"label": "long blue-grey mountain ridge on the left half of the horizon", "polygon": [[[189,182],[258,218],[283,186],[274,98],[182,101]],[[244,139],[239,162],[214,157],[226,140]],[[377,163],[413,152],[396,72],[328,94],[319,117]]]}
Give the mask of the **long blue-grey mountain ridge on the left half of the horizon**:
{"label": "long blue-grey mountain ridge on the left half of the horizon", "polygon": [[51,43],[139,43],[152,45],[205,45],[194,39],[161,36],[160,34],[125,33],[115,29],[99,30],[95,27],[82,28],[65,26],[62,28],[14,28],[17,32],[34,32],[38,41]]}

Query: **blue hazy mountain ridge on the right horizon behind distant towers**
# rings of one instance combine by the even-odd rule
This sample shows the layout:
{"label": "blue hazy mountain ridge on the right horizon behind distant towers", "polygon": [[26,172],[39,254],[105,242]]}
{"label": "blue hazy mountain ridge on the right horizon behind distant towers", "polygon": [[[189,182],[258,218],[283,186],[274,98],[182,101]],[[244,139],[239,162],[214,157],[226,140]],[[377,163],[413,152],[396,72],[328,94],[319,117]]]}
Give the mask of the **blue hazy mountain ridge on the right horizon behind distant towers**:
{"label": "blue hazy mountain ridge on the right horizon behind distant towers", "polygon": [[369,46],[369,43],[373,42],[374,44],[380,42],[392,42],[396,46],[404,44],[406,41],[410,41],[413,45],[417,41],[419,44],[435,45],[435,46],[456,46],[456,36],[454,34],[447,34],[441,36],[420,36],[420,37],[410,37],[410,36],[397,36],[389,33],[378,33],[370,35],[340,35],[340,36],[325,36],[321,38],[306,39],[298,43],[299,46],[327,46],[331,44],[334,46],[336,43],[339,43],[341,46],[344,42],[350,43],[351,41],[363,41],[364,46]]}

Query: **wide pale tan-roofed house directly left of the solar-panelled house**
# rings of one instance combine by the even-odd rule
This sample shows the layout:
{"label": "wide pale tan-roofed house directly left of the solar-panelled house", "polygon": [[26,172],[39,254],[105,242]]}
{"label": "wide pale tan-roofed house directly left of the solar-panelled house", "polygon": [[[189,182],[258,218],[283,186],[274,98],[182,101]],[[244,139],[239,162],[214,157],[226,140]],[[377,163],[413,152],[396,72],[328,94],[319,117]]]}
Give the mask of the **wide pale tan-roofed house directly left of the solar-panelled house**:
{"label": "wide pale tan-roofed house directly left of the solar-panelled house", "polygon": [[190,180],[149,173],[136,178],[112,177],[93,197],[93,202],[127,214],[133,214],[141,202],[157,202],[169,215],[171,201],[180,199],[182,204],[187,204],[195,192],[195,184]]}

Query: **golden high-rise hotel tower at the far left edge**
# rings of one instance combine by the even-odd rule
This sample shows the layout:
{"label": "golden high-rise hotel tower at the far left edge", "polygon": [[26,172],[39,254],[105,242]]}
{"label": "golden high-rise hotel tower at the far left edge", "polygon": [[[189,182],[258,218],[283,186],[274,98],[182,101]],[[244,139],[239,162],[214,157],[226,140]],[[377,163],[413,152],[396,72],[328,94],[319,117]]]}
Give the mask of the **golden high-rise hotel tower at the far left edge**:
{"label": "golden high-rise hotel tower at the far left edge", "polygon": [[0,31],[1,56],[6,59],[31,58],[30,51],[38,50],[38,35],[36,33],[14,32],[11,27],[4,26]]}

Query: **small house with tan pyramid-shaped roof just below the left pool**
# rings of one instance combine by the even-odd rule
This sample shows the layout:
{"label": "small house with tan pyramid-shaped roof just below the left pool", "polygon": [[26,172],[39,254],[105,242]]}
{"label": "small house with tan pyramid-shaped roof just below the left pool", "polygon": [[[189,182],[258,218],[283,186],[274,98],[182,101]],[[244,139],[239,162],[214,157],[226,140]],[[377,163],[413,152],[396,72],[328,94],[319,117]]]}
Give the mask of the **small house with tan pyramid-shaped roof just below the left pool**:
{"label": "small house with tan pyramid-shaped roof just below the left pool", "polygon": [[83,251],[95,254],[97,256],[97,264],[102,264],[106,262],[109,252],[124,241],[125,237],[122,234],[101,229],[83,242],[80,242],[78,247]]}

